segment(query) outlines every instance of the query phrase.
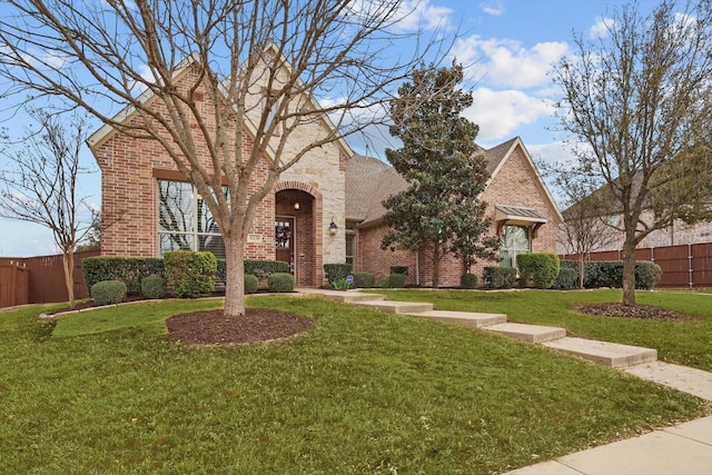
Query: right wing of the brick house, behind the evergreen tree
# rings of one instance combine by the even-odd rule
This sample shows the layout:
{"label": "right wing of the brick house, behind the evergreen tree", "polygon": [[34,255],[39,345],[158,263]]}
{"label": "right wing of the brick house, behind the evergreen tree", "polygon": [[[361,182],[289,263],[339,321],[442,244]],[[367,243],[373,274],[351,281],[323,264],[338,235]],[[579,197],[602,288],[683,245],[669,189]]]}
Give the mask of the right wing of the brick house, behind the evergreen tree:
{"label": "right wing of the brick house, behind the evergreen tree", "polygon": [[[501,237],[501,261],[478,261],[465,269],[462,259],[448,256],[441,264],[441,285],[457,286],[465,271],[482,276],[486,266],[515,266],[516,256],[556,250],[563,221],[531,156],[517,137],[491,149],[479,149],[491,177],[481,199],[487,202],[491,232]],[[383,161],[355,156],[346,169],[346,255],[355,270],[386,277],[392,266],[408,267],[408,283],[432,285],[432,264],[418,253],[380,249],[387,231],[383,200],[407,184]]]}

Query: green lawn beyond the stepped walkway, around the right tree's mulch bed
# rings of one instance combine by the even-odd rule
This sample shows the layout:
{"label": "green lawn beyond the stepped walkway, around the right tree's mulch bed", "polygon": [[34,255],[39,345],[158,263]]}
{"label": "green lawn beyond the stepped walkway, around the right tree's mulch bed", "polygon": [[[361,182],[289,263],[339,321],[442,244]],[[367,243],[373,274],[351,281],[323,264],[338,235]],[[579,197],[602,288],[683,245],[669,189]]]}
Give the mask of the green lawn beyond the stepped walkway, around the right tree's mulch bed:
{"label": "green lawn beyond the stepped walkway, around the right tree's mulch bed", "polygon": [[506,314],[510,321],[566,328],[575,336],[657,349],[662,360],[712,372],[712,295],[693,291],[637,291],[639,304],[694,318],[660,321],[578,314],[578,304],[621,301],[620,290],[384,290],[389,299],[428,301],[443,310]]}

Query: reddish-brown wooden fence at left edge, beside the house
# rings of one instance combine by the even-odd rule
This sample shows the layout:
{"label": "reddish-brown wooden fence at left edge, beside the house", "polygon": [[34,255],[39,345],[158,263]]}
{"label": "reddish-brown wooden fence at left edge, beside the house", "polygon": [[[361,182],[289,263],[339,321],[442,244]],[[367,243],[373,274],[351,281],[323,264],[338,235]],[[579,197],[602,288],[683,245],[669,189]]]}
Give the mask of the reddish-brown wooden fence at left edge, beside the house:
{"label": "reddish-brown wooden fence at left edge, beside the house", "polygon": [[[81,261],[87,257],[99,256],[99,250],[87,250],[75,254],[75,297],[87,298],[89,293],[85,285],[85,276],[81,271]],[[0,297],[0,308],[23,304],[47,304],[52,301],[67,301],[67,286],[65,285],[65,270],[62,256],[38,257],[0,257],[0,269],[11,268],[0,273],[0,294],[14,295],[6,300]],[[23,269],[18,271],[17,269]],[[24,274],[26,277],[16,277]],[[16,279],[16,280],[13,280]],[[17,280],[19,279],[19,280]],[[22,284],[24,279],[27,284]],[[13,284],[17,281],[19,284]],[[14,287],[13,287],[14,286]]]}

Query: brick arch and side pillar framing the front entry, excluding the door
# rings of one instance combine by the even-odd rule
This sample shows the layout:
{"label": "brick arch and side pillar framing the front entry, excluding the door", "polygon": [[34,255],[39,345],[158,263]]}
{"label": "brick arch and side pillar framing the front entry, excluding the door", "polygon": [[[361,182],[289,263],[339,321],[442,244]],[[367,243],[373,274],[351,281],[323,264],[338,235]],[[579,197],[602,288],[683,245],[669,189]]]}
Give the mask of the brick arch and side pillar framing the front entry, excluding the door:
{"label": "brick arch and side pillar framing the front entry, excluding the door", "polygon": [[291,264],[298,287],[324,280],[323,197],[308,184],[288,180],[275,186],[275,218],[294,222]]}

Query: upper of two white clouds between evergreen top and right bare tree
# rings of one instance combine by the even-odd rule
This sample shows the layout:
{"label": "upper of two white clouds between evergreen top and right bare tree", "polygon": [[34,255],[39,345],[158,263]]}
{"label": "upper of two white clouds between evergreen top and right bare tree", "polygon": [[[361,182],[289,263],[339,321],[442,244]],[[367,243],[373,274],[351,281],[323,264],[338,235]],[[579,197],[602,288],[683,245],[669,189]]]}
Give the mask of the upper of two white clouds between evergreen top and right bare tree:
{"label": "upper of two white clouds between evergreen top and right bare tree", "polygon": [[467,68],[471,79],[497,88],[534,88],[548,83],[552,65],[566,53],[565,42],[541,42],[527,49],[520,41],[484,40],[476,34],[453,48],[453,56]]}

